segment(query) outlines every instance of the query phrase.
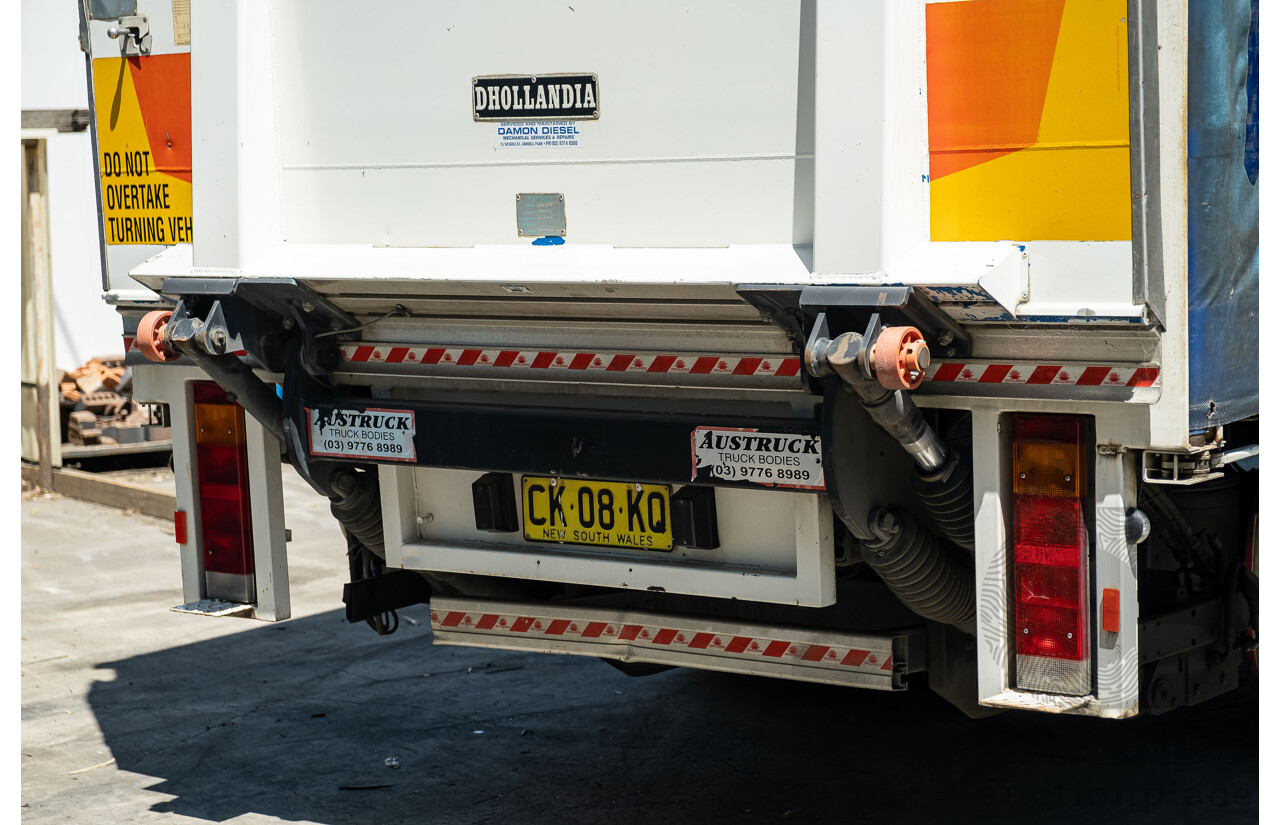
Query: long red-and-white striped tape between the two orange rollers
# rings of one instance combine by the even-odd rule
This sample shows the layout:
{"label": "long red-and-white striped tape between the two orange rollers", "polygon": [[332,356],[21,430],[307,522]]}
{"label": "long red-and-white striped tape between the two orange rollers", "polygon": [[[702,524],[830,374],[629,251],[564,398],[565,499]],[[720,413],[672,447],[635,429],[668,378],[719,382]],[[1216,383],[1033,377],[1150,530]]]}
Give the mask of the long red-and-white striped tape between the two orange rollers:
{"label": "long red-and-white striped tape between the two orange rollers", "polygon": [[422,367],[508,367],[513,370],[737,375],[773,376],[780,379],[800,375],[800,358],[795,356],[771,358],[755,356],[677,356],[625,352],[347,344],[342,347],[342,358],[351,363],[398,363]]}

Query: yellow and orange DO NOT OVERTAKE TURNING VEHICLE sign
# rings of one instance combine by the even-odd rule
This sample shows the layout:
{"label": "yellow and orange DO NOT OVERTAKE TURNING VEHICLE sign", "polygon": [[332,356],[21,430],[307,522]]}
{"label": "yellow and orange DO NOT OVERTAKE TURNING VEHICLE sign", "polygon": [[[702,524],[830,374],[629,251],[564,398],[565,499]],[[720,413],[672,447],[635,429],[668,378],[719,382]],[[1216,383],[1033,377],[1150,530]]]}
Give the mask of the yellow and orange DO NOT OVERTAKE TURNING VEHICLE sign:
{"label": "yellow and orange DO NOT OVERTAKE TURNING VEHICLE sign", "polygon": [[93,105],[106,242],[191,243],[191,55],[95,60]]}

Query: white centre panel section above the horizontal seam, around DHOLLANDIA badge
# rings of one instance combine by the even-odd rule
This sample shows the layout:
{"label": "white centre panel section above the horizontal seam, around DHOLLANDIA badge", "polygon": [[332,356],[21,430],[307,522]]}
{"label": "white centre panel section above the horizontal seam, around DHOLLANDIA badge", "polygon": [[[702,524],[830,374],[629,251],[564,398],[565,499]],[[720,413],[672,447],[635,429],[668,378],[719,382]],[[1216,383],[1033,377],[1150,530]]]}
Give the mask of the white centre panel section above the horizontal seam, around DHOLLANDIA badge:
{"label": "white centre panel section above the horizontal seam, around DHOLLANDIA badge", "polygon": [[492,162],[471,78],[563,72],[599,78],[585,155],[508,150],[503,162],[795,152],[797,3],[387,0],[361,8],[376,47],[349,59],[335,59],[356,46],[335,26],[349,3],[275,5],[287,168]]}

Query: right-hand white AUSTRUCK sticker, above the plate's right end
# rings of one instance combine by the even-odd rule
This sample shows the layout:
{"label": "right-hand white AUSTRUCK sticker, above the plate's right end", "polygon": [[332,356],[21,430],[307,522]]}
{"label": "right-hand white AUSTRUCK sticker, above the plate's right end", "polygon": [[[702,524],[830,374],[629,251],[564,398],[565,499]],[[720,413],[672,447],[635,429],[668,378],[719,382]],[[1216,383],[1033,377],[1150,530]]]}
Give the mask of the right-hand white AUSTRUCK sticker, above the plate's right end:
{"label": "right-hand white AUSTRUCK sticker, above the plate's right end", "polygon": [[690,481],[745,481],[765,487],[826,490],[822,439],[796,432],[698,427]]}

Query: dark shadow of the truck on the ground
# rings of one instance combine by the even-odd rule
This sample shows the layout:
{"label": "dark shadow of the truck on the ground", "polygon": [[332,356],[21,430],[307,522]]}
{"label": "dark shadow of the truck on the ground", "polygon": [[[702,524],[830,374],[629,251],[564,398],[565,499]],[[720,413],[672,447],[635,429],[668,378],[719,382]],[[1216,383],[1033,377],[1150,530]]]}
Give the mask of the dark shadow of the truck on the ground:
{"label": "dark shadow of the truck on the ground", "polygon": [[426,609],[402,618],[385,638],[335,611],[109,663],[90,702],[119,767],[168,794],[152,810],[209,821],[1258,816],[1253,688],[1120,723],[970,721],[923,686],[630,679],[589,659],[431,647]]}

